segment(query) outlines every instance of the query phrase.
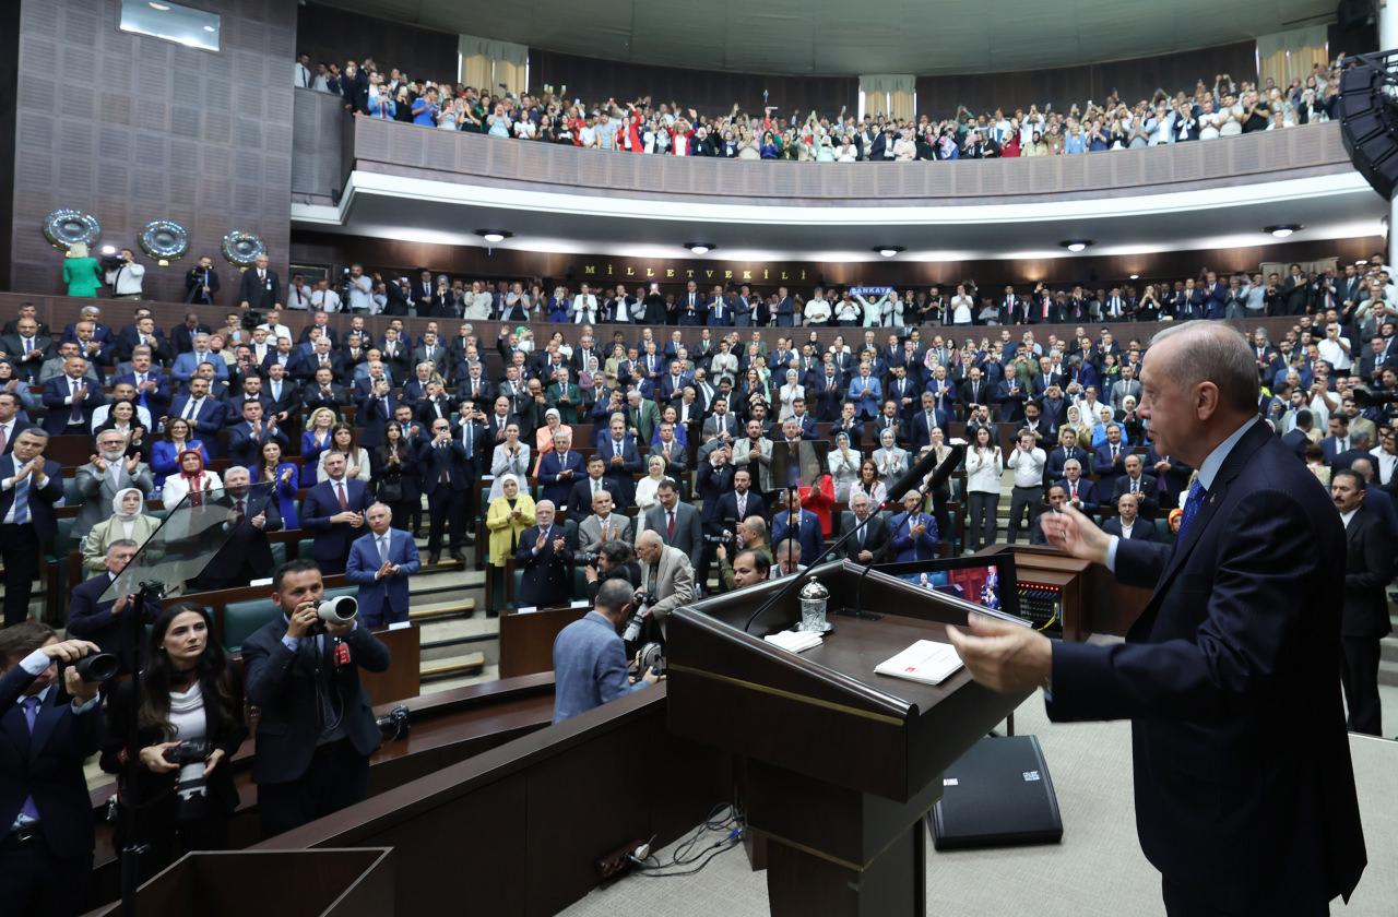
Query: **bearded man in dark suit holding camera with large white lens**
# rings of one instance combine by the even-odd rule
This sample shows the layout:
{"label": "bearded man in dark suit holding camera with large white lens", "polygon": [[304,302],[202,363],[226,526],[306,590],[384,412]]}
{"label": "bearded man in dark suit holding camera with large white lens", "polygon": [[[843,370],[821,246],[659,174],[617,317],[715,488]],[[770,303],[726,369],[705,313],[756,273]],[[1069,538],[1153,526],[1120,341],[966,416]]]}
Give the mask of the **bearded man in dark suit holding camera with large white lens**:
{"label": "bearded man in dark suit holding camera with large white lens", "polygon": [[320,622],[320,568],[289,561],[273,577],[281,615],[243,640],[247,702],[261,710],[253,781],[271,837],[369,795],[379,725],[359,670],[389,668],[389,647],[358,621]]}

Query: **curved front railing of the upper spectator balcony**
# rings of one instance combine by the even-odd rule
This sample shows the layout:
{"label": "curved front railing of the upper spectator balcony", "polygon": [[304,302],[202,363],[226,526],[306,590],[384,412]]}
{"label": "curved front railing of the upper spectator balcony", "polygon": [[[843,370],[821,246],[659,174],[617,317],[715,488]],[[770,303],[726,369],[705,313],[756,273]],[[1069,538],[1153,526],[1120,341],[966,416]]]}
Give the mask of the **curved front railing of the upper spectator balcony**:
{"label": "curved front railing of the upper spectator balcony", "polygon": [[[445,182],[714,203],[976,204],[1121,197],[1349,171],[1339,124],[1079,155],[948,162],[786,162],[603,152],[368,117],[343,130],[324,94],[296,92],[298,200],[338,193],[350,168]],[[310,140],[315,140],[315,144]]]}

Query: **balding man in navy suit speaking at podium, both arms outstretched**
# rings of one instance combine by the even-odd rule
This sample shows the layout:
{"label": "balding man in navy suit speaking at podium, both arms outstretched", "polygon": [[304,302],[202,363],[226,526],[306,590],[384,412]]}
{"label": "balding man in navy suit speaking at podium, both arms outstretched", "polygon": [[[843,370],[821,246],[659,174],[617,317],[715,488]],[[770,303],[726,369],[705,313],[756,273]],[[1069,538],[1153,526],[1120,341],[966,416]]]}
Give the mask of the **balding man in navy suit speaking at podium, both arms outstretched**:
{"label": "balding man in navy suit speaking at podium, both arms outstretched", "polygon": [[976,681],[1046,688],[1054,720],[1132,720],[1137,830],[1172,917],[1325,914],[1367,861],[1339,698],[1343,526],[1258,419],[1237,331],[1162,331],[1141,382],[1156,449],[1199,470],[1179,540],[1043,520],[1054,547],[1155,590],[1127,642],[979,616],[951,640]]}

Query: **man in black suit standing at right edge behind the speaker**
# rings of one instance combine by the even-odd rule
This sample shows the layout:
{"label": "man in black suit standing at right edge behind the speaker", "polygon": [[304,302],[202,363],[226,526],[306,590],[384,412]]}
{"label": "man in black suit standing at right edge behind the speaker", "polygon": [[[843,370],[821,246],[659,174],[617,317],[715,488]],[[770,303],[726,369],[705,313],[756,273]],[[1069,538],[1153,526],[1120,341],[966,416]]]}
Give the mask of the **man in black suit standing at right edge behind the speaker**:
{"label": "man in black suit standing at right edge behind the speaker", "polygon": [[1366,503],[1364,478],[1352,468],[1335,471],[1329,495],[1345,524],[1345,611],[1341,621],[1341,681],[1352,732],[1378,735],[1378,642],[1392,630],[1384,589],[1394,576],[1394,541]]}

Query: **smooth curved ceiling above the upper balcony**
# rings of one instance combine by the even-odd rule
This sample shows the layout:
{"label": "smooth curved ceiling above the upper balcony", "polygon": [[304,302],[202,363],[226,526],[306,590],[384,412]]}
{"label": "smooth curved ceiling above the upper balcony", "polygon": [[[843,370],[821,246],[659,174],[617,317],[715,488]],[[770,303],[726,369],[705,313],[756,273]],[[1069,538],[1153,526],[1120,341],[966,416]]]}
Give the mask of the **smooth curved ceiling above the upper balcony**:
{"label": "smooth curved ceiling above the upper balcony", "polygon": [[1335,0],[322,0],[549,50],[784,74],[1037,70],[1211,48],[1334,18]]}

